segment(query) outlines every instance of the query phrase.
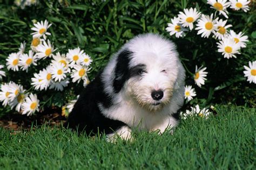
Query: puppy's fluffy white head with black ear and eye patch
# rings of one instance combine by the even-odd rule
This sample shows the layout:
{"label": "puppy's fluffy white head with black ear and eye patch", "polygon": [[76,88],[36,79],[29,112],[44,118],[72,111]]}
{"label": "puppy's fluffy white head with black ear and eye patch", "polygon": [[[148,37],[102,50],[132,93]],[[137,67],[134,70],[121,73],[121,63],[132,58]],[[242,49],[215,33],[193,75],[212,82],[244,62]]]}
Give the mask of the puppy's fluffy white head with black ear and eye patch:
{"label": "puppy's fluffy white head with black ear and eye patch", "polygon": [[177,82],[184,79],[176,47],[155,34],[129,41],[118,53],[113,72],[114,93],[152,112],[170,103]]}

